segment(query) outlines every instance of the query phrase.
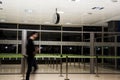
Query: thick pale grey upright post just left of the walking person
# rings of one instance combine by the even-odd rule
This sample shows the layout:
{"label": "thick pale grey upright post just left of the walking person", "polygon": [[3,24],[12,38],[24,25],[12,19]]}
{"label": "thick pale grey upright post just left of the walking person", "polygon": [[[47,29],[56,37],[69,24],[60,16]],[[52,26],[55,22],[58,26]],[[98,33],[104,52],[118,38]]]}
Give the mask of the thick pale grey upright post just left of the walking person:
{"label": "thick pale grey upright post just left of the walking person", "polygon": [[21,58],[21,73],[22,73],[22,76],[23,76],[23,80],[24,80],[24,77],[25,77],[25,55],[26,55],[26,37],[27,36],[27,32],[26,30],[23,30],[22,31],[22,55],[23,55],[23,58]]}

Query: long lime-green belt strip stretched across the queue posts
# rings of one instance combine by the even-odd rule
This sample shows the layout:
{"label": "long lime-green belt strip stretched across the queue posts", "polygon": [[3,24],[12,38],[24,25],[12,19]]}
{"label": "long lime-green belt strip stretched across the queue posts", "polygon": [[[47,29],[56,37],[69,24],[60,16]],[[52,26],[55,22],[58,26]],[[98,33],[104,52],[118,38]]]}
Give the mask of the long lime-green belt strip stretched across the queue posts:
{"label": "long lime-green belt strip stretched across the queue posts", "polygon": [[[52,55],[52,54],[37,54],[35,57],[36,58],[96,58],[96,56],[88,56],[88,55],[71,55],[71,54],[62,54],[62,57],[60,55]],[[0,58],[23,58],[22,54],[0,54]],[[114,59],[120,59],[120,56],[98,56],[98,58],[114,58]]]}

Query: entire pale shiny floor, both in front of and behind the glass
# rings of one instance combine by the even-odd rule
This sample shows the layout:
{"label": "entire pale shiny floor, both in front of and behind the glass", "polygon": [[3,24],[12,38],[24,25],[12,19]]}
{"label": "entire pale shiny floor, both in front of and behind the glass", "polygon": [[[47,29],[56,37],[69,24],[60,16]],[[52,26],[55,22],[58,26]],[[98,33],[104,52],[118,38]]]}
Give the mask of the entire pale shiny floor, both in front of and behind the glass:
{"label": "entire pale shiny floor, both in front of and behind the glass", "polygon": [[[63,73],[66,71],[66,64],[62,64]],[[31,74],[30,80],[120,80],[120,71],[108,67],[98,66],[98,72],[102,74],[89,74],[90,65],[83,63],[68,64],[68,78],[66,74],[60,77],[60,65],[40,64],[36,74]],[[0,65],[0,80],[23,80],[21,65]],[[52,73],[52,74],[51,74]],[[105,74],[110,73],[110,74]],[[117,74],[114,74],[117,73]]]}

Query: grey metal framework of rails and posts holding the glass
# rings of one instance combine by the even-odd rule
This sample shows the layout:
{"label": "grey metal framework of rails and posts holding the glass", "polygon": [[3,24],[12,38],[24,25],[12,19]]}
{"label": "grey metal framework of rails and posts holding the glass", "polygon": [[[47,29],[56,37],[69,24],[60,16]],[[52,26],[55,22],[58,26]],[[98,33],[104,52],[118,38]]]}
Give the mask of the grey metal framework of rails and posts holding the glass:
{"label": "grey metal framework of rails and posts holding the glass", "polygon": [[[89,46],[90,47],[90,56],[94,56],[94,47],[95,46],[114,46],[115,47],[115,52],[117,52],[117,47],[120,47],[120,43],[117,42],[117,37],[115,35],[115,42],[103,42],[103,34],[120,34],[118,32],[83,32],[83,31],[63,31],[61,27],[61,31],[55,31],[55,30],[24,30],[24,29],[0,29],[0,30],[10,30],[10,31],[22,31],[22,41],[18,40],[0,40],[0,44],[22,44],[22,53],[25,55],[25,44],[26,44],[26,36],[27,36],[27,31],[37,31],[37,32],[60,32],[61,33],[61,41],[41,41],[41,38],[39,39],[40,41],[35,41],[35,44],[37,45],[60,45],[61,46],[61,54],[62,54],[62,47],[64,45],[69,45],[69,46],[82,46],[82,51],[83,51],[83,46]],[[62,34],[64,33],[90,33],[90,42],[84,42],[83,37],[81,42],[64,42],[62,41]],[[102,34],[102,42],[95,42],[95,33],[101,33]],[[18,33],[17,33],[18,35]],[[18,50],[18,49],[17,49]],[[16,51],[17,52],[17,51]],[[83,52],[82,52],[83,54]],[[102,47],[102,55],[103,55],[103,47]],[[115,53],[116,56],[116,53]],[[22,66],[24,66],[24,58],[22,59]],[[103,59],[102,59],[103,63]],[[94,59],[90,59],[90,73],[94,73]],[[115,59],[115,68],[117,67],[117,59]],[[23,69],[22,69],[23,70]]]}

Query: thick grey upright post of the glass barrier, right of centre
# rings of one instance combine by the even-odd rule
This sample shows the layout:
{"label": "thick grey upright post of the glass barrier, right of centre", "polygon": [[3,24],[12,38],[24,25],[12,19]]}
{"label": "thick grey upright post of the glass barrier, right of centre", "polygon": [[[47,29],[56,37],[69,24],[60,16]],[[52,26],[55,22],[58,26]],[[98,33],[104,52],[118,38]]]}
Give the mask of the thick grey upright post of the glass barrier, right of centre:
{"label": "thick grey upright post of the glass barrier, right of centre", "polygon": [[[94,56],[94,33],[90,33],[90,56]],[[94,58],[90,58],[90,73],[94,74]]]}

